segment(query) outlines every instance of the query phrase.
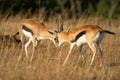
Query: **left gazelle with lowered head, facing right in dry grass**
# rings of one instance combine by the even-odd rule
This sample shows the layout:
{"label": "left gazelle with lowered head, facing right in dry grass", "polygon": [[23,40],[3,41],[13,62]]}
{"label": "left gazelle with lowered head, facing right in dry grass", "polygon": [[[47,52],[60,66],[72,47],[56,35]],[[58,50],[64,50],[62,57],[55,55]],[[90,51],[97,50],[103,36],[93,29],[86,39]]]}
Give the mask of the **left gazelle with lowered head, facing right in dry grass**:
{"label": "left gazelle with lowered head, facing right in dry grass", "polygon": [[46,26],[43,23],[39,23],[37,20],[34,19],[23,19],[18,26],[18,32],[14,35],[14,38],[16,39],[16,35],[20,35],[20,40],[22,42],[22,47],[24,46],[24,36],[28,37],[28,42],[25,44],[25,53],[26,57],[28,56],[28,46],[32,42],[33,44],[33,53],[35,50],[35,47],[37,46],[37,41],[43,40],[43,39],[50,39],[55,44],[55,38],[56,33],[52,32],[51,30],[48,30]]}

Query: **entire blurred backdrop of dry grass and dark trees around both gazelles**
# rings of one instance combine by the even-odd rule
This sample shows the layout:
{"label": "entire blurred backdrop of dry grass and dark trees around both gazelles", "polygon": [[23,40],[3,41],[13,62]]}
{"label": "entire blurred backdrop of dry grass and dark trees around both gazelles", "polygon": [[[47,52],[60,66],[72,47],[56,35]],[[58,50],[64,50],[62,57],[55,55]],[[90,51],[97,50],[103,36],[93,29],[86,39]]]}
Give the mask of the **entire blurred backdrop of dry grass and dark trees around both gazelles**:
{"label": "entire blurred backdrop of dry grass and dark trees around both gazelles", "polygon": [[[30,45],[26,58],[22,44],[13,38],[20,21],[33,18],[55,30],[56,16],[60,23],[61,15],[64,31],[93,24],[116,33],[106,34],[102,42],[102,66],[97,50],[90,67],[88,45],[82,49],[85,62],[75,46],[63,66],[69,44],[57,48],[50,40],[38,43],[32,62]],[[0,0],[0,80],[120,80],[120,0]]]}

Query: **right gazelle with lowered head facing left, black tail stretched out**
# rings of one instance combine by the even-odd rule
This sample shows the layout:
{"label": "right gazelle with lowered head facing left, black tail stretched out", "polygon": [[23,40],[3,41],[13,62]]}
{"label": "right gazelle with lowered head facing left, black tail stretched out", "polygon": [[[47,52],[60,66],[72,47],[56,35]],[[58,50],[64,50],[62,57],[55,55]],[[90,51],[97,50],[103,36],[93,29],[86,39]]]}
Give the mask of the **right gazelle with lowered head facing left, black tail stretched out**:
{"label": "right gazelle with lowered head facing left, black tail stretched out", "polygon": [[[96,54],[95,44],[97,44],[97,47],[100,51],[100,56],[102,58],[103,50],[101,47],[101,41],[103,40],[104,33],[109,33],[109,34],[113,34],[113,35],[115,34],[114,32],[110,32],[108,30],[102,29],[98,25],[83,25],[83,26],[80,26],[77,28],[73,28],[69,32],[63,32],[63,25],[61,25],[60,29],[57,31],[58,46],[61,46],[64,42],[68,42],[70,44],[70,50],[69,50],[69,53],[68,53],[63,65],[68,60],[68,57],[69,57],[74,45],[77,45],[79,47],[79,50],[81,53],[82,46],[85,43],[88,44],[88,46],[90,47],[90,49],[93,52],[93,56],[92,56],[90,65],[92,65],[95,54]],[[82,55],[82,53],[81,53],[81,55]],[[82,55],[82,58],[84,58],[83,55]]]}

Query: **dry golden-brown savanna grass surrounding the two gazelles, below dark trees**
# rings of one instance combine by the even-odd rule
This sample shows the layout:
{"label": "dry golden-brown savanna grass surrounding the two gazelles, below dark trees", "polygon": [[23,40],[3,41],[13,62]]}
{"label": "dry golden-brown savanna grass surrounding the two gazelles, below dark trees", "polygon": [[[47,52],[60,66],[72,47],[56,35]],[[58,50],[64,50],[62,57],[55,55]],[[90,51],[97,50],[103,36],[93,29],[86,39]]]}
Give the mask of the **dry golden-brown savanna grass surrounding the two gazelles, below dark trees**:
{"label": "dry golden-brown savanna grass surrounding the two gazelles, below dark trees", "polygon": [[[98,17],[70,19],[64,21],[65,31],[70,27],[85,24],[98,24],[113,31],[116,35],[106,34],[102,42],[103,64],[97,52],[92,66],[92,52],[87,45],[83,47],[86,62],[82,62],[79,48],[74,47],[67,63],[63,66],[69,45],[56,48],[50,40],[39,42],[30,62],[32,45],[29,46],[29,57],[25,57],[21,44],[17,44],[12,35],[17,32],[20,16],[0,21],[0,80],[120,80],[120,19],[111,20]],[[40,19],[38,19],[40,20]],[[48,29],[55,29],[55,19],[44,22]]]}

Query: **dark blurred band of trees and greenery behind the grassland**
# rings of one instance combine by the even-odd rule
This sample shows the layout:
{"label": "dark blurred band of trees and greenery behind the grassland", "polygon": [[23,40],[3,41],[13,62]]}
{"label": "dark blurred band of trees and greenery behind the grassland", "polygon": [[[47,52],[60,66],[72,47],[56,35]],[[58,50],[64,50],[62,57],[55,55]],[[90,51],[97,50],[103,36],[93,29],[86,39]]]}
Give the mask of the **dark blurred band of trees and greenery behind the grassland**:
{"label": "dark blurred band of trees and greenery behind the grassland", "polygon": [[42,16],[45,20],[56,14],[67,18],[102,16],[119,18],[120,0],[0,0],[0,17]]}

